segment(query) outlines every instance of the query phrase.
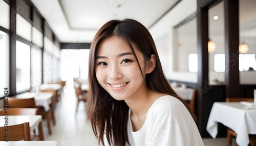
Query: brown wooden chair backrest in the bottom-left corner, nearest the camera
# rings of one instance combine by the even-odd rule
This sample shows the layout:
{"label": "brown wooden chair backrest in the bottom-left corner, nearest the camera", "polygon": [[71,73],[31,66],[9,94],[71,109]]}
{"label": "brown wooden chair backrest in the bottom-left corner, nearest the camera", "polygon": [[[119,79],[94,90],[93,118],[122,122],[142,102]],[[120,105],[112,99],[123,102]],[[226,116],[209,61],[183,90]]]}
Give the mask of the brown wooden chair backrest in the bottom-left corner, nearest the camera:
{"label": "brown wooden chair backrest in the bottom-left corner, nearest the camera", "polygon": [[[6,131],[8,129],[8,131]],[[5,133],[8,132],[8,137],[5,137]],[[7,139],[8,138],[8,139]],[[30,129],[29,129],[29,123],[23,123],[18,125],[12,125],[6,127],[0,127],[0,140],[8,141],[17,141],[17,140],[25,140],[29,141],[30,139]]]}

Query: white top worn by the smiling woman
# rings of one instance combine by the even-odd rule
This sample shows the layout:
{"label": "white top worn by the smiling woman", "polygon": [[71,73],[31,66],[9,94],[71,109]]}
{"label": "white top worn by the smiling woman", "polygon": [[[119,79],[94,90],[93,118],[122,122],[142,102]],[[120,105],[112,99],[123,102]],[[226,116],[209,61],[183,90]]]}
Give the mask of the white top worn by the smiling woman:
{"label": "white top worn by the smiling woman", "polygon": [[[133,131],[130,114],[131,110],[127,133],[132,146],[204,145],[193,117],[184,104],[173,96],[165,95],[157,99],[148,109],[143,126],[136,132]],[[109,144],[106,138],[104,143]]]}

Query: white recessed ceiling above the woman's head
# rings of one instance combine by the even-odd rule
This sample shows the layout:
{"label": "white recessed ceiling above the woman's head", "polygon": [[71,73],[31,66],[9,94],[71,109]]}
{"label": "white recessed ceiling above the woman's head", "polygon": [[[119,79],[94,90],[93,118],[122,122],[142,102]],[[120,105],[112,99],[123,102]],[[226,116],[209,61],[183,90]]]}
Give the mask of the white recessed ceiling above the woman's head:
{"label": "white recessed ceiling above the woman's head", "polygon": [[111,19],[133,18],[150,29],[178,0],[32,1],[61,42],[91,42]]}

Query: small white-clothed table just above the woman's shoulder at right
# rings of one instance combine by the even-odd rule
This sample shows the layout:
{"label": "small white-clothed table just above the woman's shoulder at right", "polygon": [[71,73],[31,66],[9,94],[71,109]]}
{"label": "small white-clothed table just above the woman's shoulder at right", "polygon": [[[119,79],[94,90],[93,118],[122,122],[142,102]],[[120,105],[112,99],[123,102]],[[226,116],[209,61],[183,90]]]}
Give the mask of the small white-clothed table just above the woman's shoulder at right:
{"label": "small white-clothed table just above the woman's shoulder at right", "polygon": [[173,89],[183,100],[192,100],[194,92],[193,88],[173,87]]}

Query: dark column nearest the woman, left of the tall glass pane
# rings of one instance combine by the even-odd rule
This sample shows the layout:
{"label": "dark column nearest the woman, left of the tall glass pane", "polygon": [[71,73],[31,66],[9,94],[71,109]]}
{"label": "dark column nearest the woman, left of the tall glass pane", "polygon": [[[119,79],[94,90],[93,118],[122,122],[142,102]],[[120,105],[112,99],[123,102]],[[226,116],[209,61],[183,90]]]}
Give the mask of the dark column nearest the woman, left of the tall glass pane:
{"label": "dark column nearest the woman, left of the tall glass pane", "polygon": [[198,8],[197,15],[198,34],[198,83],[197,83],[197,113],[199,117],[199,131],[202,136],[208,135],[206,131],[210,112],[210,89],[208,67],[208,9]]}

